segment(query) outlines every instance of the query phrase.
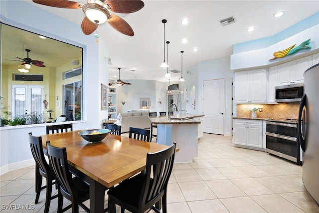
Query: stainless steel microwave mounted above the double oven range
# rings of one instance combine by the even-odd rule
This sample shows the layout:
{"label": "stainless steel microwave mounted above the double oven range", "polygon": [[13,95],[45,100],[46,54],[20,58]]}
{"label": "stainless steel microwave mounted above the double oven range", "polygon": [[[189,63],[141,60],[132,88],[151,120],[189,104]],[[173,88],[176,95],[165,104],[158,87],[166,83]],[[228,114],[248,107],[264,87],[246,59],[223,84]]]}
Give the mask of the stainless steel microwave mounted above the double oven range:
{"label": "stainless steel microwave mounted above the double oven range", "polygon": [[276,102],[300,102],[304,95],[304,84],[287,84],[275,87]]}

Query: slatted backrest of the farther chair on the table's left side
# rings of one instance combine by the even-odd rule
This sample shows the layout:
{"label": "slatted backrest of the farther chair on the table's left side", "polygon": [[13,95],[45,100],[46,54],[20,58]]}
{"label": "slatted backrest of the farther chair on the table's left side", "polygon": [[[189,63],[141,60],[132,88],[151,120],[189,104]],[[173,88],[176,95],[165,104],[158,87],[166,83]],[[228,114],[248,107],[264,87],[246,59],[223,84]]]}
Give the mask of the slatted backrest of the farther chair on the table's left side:
{"label": "slatted backrest of the farther chair on the table's left side", "polygon": [[44,158],[43,146],[42,146],[42,138],[40,136],[33,136],[31,132],[29,132],[29,142],[30,148],[32,152],[32,156],[35,160],[35,163],[39,167],[40,174],[43,177],[48,176],[48,172],[50,171],[50,166],[46,162]]}

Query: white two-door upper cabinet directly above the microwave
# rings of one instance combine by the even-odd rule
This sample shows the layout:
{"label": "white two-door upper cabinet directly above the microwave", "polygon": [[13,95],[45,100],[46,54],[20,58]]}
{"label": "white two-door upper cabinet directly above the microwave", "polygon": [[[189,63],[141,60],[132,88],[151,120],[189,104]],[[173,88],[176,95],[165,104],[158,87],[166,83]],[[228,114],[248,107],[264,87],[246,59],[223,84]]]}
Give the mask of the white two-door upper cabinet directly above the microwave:
{"label": "white two-door upper cabinet directly above the microwave", "polygon": [[313,64],[312,56],[278,65],[278,85],[304,82],[304,72]]}

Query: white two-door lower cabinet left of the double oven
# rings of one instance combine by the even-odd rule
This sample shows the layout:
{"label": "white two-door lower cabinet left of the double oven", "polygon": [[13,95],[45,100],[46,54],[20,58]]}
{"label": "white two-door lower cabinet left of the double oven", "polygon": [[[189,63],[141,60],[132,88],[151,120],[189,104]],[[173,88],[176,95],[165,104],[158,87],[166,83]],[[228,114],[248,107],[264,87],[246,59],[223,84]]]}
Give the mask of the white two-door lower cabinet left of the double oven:
{"label": "white two-door lower cabinet left of the double oven", "polygon": [[263,122],[233,119],[233,144],[263,150]]}

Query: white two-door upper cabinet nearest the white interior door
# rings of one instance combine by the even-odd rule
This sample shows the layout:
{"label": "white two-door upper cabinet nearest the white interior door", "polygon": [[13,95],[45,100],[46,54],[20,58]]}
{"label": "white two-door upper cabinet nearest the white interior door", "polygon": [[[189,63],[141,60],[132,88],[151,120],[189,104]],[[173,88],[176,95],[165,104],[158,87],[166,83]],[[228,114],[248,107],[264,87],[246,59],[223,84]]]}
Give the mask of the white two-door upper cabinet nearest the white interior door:
{"label": "white two-door upper cabinet nearest the white interior door", "polygon": [[235,73],[236,103],[266,103],[266,69]]}

